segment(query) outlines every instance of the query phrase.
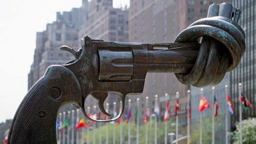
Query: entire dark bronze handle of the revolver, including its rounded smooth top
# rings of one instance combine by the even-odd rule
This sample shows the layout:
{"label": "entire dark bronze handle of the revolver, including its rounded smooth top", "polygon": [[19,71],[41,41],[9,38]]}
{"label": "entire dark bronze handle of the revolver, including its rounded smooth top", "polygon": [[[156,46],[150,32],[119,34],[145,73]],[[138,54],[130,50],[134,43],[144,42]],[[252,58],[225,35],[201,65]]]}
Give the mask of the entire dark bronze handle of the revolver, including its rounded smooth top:
{"label": "entire dark bronze handle of the revolver, including its rounded smooth top", "polygon": [[64,66],[50,66],[15,113],[7,144],[57,144],[56,120],[63,106],[82,105],[76,76]]}

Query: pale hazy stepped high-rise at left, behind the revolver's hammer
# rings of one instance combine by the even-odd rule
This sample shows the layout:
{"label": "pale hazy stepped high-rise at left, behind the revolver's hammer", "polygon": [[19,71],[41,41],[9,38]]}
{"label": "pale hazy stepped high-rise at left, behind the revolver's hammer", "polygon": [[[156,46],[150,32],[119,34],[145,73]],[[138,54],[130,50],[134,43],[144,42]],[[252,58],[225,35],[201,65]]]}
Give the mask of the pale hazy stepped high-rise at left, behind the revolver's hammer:
{"label": "pale hazy stepped high-rise at left, behind the revolver's hammer", "polygon": [[[57,12],[56,21],[47,24],[46,30],[36,34],[34,61],[28,74],[28,89],[41,78],[48,66],[65,64],[74,59],[72,54],[60,50],[61,45],[78,49],[78,30],[85,13],[85,3],[81,8],[73,8],[70,12]],[[85,14],[83,14],[85,13]],[[80,39],[79,39],[80,41]]]}

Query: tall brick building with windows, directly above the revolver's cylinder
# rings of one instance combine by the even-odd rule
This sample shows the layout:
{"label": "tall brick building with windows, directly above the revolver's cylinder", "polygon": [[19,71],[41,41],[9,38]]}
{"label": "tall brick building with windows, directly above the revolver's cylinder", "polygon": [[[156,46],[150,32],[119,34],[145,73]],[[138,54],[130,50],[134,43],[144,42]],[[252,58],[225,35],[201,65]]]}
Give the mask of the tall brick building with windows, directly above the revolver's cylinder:
{"label": "tall brick building with windows, directly above the revolver's cylinder", "polygon": [[112,5],[113,0],[91,0],[79,37],[88,35],[92,39],[128,42],[128,9]]}

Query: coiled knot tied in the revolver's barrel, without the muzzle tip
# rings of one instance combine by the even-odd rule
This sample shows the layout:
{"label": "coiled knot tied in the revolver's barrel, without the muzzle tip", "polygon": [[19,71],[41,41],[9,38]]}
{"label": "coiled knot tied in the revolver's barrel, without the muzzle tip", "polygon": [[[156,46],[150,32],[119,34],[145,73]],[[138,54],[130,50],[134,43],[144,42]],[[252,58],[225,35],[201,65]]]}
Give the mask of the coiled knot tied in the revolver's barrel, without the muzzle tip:
{"label": "coiled knot tied in the revolver's barrel, without the muzzle tip", "polygon": [[245,51],[242,28],[226,17],[199,19],[183,30],[174,42],[198,42],[200,49],[190,73],[175,73],[185,85],[216,85],[239,64]]}

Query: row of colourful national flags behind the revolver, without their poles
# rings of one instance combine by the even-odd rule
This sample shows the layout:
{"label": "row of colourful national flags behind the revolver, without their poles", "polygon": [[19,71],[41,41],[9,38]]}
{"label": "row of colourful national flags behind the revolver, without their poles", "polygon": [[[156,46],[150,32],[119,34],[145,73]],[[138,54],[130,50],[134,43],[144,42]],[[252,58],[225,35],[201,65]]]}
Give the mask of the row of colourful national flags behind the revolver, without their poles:
{"label": "row of colourful national flags behind the revolver, without their poles", "polygon": [[[231,102],[231,98],[230,98],[230,95],[228,94],[227,95],[227,100],[228,100],[228,111],[231,115],[233,115],[234,113],[234,106],[232,105],[232,102]],[[251,103],[249,102],[249,100],[242,94],[241,98],[240,98],[241,102],[242,102],[242,107],[244,109],[249,109],[249,107],[251,107]],[[216,97],[214,96],[214,115],[215,117],[218,116],[218,102],[216,100]],[[207,99],[202,96],[201,99],[200,99],[200,102],[199,102],[199,112],[202,112],[204,111],[205,109],[207,108],[210,108],[210,104],[209,102],[207,101]],[[189,102],[188,104],[188,113],[189,113],[189,119],[191,118],[191,101]],[[119,110],[120,111],[120,110]],[[178,112],[180,111],[180,105],[179,105],[179,100],[176,99],[176,103],[175,103],[175,116],[178,116]],[[158,106],[158,103],[156,102],[155,104],[155,107],[154,107],[154,114],[156,114],[156,117],[157,117],[157,120],[158,120],[158,117],[159,117],[159,106]],[[150,116],[150,109],[149,109],[149,105],[147,105],[146,107],[146,113],[145,113],[145,120],[144,122],[147,123],[149,121],[149,116]],[[168,121],[170,119],[170,114],[171,114],[171,111],[170,111],[170,108],[169,108],[169,102],[166,101],[166,108],[165,108],[165,113],[164,113],[164,120],[165,121]],[[88,116],[92,119],[97,119],[97,120],[101,120],[102,119],[102,116],[101,116],[101,113],[99,113],[98,115],[97,114],[88,114]],[[117,113],[116,111],[114,111],[114,117],[117,116]],[[138,108],[136,107],[136,110],[135,110],[135,123],[137,122],[137,116],[138,116]],[[132,117],[132,111],[131,109],[128,110],[128,115],[127,115],[127,118],[126,118],[126,123],[129,122],[130,118]],[[108,116],[104,116],[103,120],[107,120]],[[120,123],[120,120],[122,119],[119,118],[117,121],[116,121],[116,125],[119,125]],[[83,128],[83,127],[90,127],[90,125],[94,123],[90,120],[86,120],[84,118],[81,118],[78,122],[78,124],[76,125],[76,129],[80,129],[80,128]],[[115,122],[113,122],[115,123]],[[66,128],[66,127],[69,127],[70,126],[70,123],[69,123],[69,118],[66,119],[66,121],[64,122],[64,124],[62,125],[62,122],[59,122],[57,121],[57,129],[59,130],[59,132],[62,132],[62,129]]]}

